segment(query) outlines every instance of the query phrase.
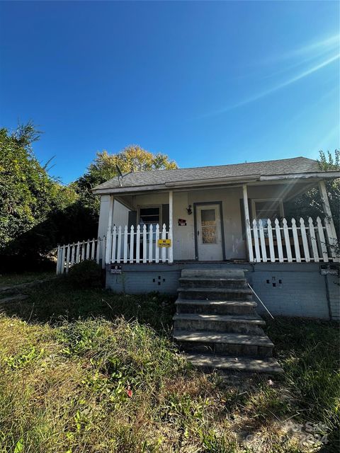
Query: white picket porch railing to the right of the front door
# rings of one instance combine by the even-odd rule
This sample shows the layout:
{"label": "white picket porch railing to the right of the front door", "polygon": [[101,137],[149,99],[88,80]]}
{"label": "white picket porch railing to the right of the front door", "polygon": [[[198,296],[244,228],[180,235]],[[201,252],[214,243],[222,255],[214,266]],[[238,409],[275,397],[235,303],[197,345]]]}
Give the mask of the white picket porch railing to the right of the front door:
{"label": "white picket porch railing to the right of the front door", "polygon": [[252,263],[328,263],[339,262],[339,243],[331,219],[309,217],[305,223],[291,219],[266,222],[254,219],[247,225],[249,261]]}

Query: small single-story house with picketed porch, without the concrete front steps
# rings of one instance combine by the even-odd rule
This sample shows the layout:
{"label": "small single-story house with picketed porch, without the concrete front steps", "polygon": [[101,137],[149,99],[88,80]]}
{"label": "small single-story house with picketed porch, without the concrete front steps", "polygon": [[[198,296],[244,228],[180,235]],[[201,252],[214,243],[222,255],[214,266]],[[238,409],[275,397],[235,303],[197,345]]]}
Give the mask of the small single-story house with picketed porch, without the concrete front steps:
{"label": "small single-story house with picketed porch, without the concrete front steps", "polygon": [[[64,246],[58,266],[97,257],[115,291],[173,294],[182,270],[243,269],[273,314],[339,319],[339,243],[325,187],[339,177],[305,157],[115,177],[93,190],[105,250]],[[323,212],[293,218],[293,200],[312,188]]]}

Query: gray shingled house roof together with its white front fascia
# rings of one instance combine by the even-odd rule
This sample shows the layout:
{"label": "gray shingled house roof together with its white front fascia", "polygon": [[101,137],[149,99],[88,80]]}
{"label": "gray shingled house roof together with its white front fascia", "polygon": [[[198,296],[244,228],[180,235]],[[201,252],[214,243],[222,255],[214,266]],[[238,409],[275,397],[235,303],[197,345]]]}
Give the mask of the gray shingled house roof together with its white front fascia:
{"label": "gray shingled house roof together with its white front fascia", "polygon": [[190,185],[211,185],[228,181],[270,181],[295,178],[339,178],[339,171],[320,171],[313,159],[295,157],[275,161],[249,162],[220,166],[140,171],[123,178],[112,178],[93,189],[96,194],[137,192]]}

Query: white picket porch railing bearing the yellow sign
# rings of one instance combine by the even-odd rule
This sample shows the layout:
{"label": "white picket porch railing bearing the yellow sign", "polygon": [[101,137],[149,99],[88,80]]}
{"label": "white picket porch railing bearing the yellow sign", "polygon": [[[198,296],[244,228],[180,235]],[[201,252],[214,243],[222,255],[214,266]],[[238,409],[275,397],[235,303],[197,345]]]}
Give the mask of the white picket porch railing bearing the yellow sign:
{"label": "white picket porch railing bearing the yellow sign", "polygon": [[[159,239],[170,239],[169,247],[159,247]],[[163,224],[162,230],[159,224],[152,224],[147,229],[146,225],[130,227],[125,225],[113,226],[111,235],[108,235],[106,249],[106,263],[172,263],[173,244],[172,228],[166,231]]]}

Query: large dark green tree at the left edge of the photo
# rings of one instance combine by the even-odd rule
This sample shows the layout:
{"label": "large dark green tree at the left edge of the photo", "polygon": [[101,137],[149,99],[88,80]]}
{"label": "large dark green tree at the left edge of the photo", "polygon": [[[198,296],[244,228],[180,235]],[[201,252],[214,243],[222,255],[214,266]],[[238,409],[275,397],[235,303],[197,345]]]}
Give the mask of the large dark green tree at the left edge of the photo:
{"label": "large dark green tree at the left edge of the photo", "polygon": [[39,137],[32,122],[12,133],[0,130],[0,254],[6,256],[6,267],[11,262],[33,263],[57,246],[51,216],[79,198],[35,158],[32,144]]}

